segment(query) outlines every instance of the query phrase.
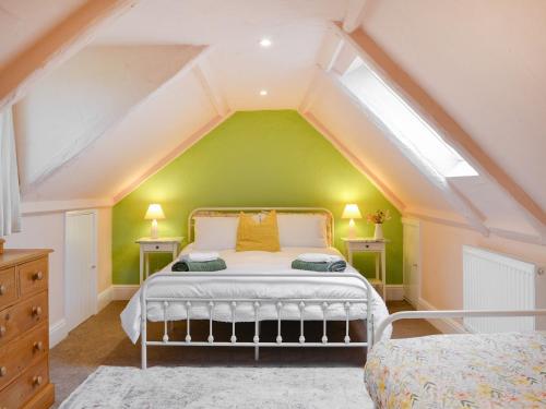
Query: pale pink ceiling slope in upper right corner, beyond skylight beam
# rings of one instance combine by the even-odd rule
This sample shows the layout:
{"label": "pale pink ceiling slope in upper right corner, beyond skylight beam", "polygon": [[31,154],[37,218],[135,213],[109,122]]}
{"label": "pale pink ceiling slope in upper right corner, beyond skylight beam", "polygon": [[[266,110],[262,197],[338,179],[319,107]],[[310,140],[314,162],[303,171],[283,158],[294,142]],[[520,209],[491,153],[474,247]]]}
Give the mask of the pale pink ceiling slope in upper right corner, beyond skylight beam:
{"label": "pale pink ceiling slope in upper right corner, beyond skylight beam", "polygon": [[546,2],[369,0],[363,27],[546,208]]}

